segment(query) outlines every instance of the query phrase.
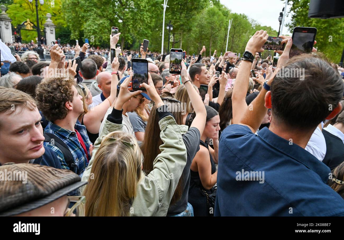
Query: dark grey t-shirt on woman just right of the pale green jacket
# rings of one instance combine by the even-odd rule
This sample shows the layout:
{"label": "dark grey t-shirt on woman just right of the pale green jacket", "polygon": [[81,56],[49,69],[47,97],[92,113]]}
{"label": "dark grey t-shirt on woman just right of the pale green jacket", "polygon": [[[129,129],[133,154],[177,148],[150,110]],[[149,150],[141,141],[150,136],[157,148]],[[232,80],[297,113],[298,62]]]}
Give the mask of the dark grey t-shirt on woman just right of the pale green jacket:
{"label": "dark grey t-shirt on woman just right of the pale green jacket", "polygon": [[184,170],[181,176],[181,179],[182,179],[181,187],[183,189],[183,194],[181,198],[178,201],[176,201],[174,205],[170,205],[166,216],[173,216],[185,211],[186,206],[187,206],[187,199],[189,197],[190,166],[196,153],[198,152],[198,150],[200,150],[201,134],[197,128],[195,127],[190,128],[182,137],[183,137],[184,144],[186,146],[186,154],[187,154],[186,165],[184,167]]}

